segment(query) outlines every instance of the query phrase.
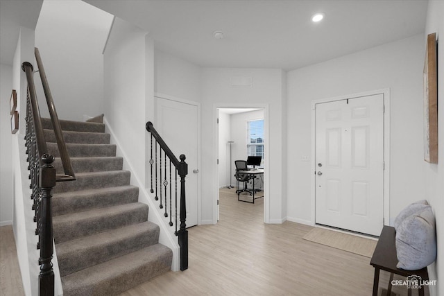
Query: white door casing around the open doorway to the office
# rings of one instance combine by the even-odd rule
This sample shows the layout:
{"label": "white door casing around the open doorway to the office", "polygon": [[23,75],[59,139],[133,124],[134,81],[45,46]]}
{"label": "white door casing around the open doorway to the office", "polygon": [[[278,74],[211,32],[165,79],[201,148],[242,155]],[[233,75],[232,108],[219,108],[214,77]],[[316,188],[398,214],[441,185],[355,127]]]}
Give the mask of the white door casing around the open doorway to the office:
{"label": "white door casing around the open doorway to the office", "polygon": [[[270,220],[270,178],[268,177],[268,172],[270,168],[270,116],[269,116],[269,105],[266,103],[214,103],[213,104],[213,134],[217,135],[219,132],[219,127],[217,125],[219,108],[258,108],[264,110],[264,138],[266,139],[264,143],[264,166],[266,171],[264,172],[264,223],[282,223],[276,222],[275,220]],[[219,137],[213,138],[213,182],[212,188],[216,190],[216,194],[213,199],[213,224],[217,223],[218,211],[217,211],[217,200],[219,199],[219,168],[217,166],[216,159],[219,158],[217,151],[219,150]],[[280,220],[279,220],[280,221]]]}

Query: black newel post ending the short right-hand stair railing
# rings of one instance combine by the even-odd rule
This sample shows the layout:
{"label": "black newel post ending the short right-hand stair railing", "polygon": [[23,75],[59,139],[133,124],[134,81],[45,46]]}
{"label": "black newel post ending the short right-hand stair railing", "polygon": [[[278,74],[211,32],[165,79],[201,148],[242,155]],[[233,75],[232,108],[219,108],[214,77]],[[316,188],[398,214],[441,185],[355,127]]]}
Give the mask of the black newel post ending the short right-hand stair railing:
{"label": "black newel post ending the short right-hand stair railing", "polygon": [[180,166],[178,173],[180,175],[180,270],[188,269],[188,231],[187,231],[187,204],[185,203],[185,176],[188,174],[188,164],[185,162],[185,155],[180,155]]}

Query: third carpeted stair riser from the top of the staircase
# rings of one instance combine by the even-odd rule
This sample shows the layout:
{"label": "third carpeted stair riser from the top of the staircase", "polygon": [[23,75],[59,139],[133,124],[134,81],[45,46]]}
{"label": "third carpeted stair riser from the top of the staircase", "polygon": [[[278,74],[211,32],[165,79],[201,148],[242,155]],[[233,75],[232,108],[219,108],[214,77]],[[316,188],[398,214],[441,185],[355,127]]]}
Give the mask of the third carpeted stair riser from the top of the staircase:
{"label": "third carpeted stair riser from the top of the staircase", "polygon": [[[48,153],[54,157],[60,157],[56,143],[46,143]],[[92,144],[67,144],[69,157],[114,157],[116,156],[115,145],[92,145]]]}

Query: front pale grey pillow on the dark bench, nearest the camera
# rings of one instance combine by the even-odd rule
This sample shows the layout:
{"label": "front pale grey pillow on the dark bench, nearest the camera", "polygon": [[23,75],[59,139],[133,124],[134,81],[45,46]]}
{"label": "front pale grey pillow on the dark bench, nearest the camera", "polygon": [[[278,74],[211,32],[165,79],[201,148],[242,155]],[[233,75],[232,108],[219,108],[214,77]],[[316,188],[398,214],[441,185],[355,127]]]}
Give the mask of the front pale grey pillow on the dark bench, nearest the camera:
{"label": "front pale grey pillow on the dark bench, nearest the camera", "polygon": [[418,270],[436,259],[436,229],[432,207],[404,218],[396,232],[397,268]]}

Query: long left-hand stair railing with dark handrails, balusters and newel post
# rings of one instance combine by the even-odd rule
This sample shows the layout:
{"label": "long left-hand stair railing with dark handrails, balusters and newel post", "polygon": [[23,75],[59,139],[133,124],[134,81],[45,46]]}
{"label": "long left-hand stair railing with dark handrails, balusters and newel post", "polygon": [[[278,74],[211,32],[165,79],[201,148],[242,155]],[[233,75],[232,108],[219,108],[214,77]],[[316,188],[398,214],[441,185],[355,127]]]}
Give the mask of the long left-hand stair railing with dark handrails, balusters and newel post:
{"label": "long left-hand stair railing with dark handrails, balusters and newel post", "polygon": [[[45,80],[42,81],[42,83],[44,84],[44,88],[46,88],[44,91],[46,103],[49,107],[49,114],[53,123],[54,132],[56,133],[56,140],[65,171],[65,174],[56,174],[56,168],[53,167],[55,157],[48,153],[46,146],[40,109],[37,102],[37,93],[35,92],[33,65],[30,62],[24,62],[22,69],[26,73],[28,84],[26,94],[26,153],[28,154],[28,170],[30,171],[30,189],[32,189],[32,209],[35,213],[34,222],[37,225],[35,228],[35,234],[38,236],[37,250],[40,249],[40,257],[38,259],[40,265],[38,293],[42,296],[52,296],[54,295],[54,272],[53,263],[51,262],[53,259],[52,190],[54,186],[56,186],[56,182],[74,181],[76,180],[76,176],[74,175],[71,161],[68,157],[56,108],[54,107],[51,92],[49,92],[42,61],[40,60],[37,49],[35,49],[35,55],[40,76],[42,80]],[[65,161],[62,155],[65,155]]]}

